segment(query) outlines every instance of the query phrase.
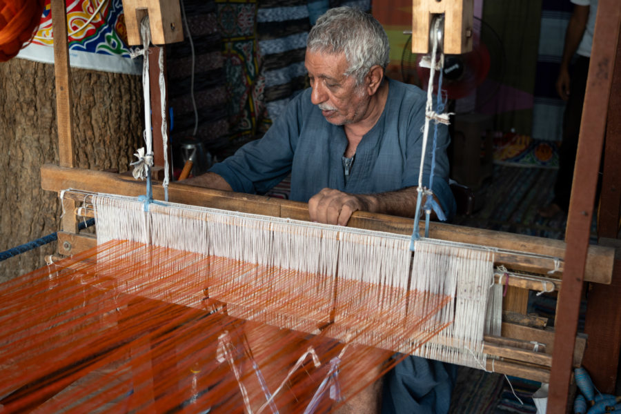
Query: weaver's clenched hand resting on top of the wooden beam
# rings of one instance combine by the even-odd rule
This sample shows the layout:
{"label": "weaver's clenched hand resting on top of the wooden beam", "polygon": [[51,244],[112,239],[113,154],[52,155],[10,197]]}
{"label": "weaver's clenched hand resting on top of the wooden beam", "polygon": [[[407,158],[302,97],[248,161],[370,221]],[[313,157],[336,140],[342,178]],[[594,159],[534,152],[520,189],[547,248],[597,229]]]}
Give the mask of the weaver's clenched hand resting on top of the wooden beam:
{"label": "weaver's clenched hand resting on top of the wooden beam", "polygon": [[324,188],[308,200],[312,221],[346,226],[356,210],[375,211],[377,202],[371,195],[348,194],[333,188]]}

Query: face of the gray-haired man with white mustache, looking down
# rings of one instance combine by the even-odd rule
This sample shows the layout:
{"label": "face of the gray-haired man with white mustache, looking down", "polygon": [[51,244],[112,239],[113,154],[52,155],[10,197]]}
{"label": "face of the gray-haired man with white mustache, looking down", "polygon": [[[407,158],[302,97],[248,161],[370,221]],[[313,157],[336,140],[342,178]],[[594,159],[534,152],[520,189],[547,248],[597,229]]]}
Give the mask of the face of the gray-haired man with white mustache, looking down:
{"label": "face of the gray-haired man with white mustache, looking down", "polygon": [[356,86],[344,53],[330,55],[306,50],[304,61],[313,93],[311,101],[319,106],[326,120],[334,125],[355,124],[366,116],[369,96]]}

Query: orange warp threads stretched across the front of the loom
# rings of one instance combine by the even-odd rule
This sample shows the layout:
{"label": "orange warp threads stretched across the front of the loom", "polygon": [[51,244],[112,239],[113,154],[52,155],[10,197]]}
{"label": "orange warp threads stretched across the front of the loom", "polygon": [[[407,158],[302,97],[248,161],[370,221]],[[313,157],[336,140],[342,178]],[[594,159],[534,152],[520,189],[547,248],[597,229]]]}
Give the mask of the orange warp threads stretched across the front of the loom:
{"label": "orange warp threads stretched across the front of the loom", "polygon": [[[449,297],[325,279],[117,240],[61,259],[0,284],[0,406],[265,414],[317,401],[327,413],[398,362],[373,346],[422,344],[444,328],[417,325]],[[388,315],[382,295],[407,313]]]}

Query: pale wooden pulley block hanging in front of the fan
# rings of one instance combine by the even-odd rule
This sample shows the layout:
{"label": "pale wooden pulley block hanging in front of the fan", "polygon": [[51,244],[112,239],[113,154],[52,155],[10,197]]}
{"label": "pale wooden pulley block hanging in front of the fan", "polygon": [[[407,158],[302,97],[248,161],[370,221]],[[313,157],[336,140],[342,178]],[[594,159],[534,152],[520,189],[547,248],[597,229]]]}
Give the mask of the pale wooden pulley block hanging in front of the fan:
{"label": "pale wooden pulley block hanging in front of the fan", "polygon": [[472,50],[473,0],[413,0],[412,52],[428,53],[433,14],[444,14],[443,51],[460,55]]}

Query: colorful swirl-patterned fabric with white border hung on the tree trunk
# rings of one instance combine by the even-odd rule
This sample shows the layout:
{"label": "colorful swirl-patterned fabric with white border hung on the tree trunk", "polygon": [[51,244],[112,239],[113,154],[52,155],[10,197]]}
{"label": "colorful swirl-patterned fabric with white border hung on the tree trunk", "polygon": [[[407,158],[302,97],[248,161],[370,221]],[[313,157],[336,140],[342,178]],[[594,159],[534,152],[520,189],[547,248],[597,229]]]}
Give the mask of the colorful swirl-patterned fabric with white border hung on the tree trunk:
{"label": "colorful swirl-patterned fabric with white border hung on the tree trunk", "polygon": [[[101,7],[100,7],[101,6]],[[76,68],[138,75],[141,59],[132,60],[121,0],[67,0],[70,65]],[[50,0],[32,43],[17,57],[54,62]]]}

